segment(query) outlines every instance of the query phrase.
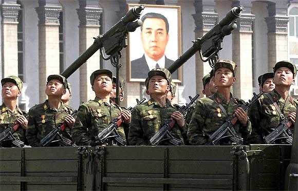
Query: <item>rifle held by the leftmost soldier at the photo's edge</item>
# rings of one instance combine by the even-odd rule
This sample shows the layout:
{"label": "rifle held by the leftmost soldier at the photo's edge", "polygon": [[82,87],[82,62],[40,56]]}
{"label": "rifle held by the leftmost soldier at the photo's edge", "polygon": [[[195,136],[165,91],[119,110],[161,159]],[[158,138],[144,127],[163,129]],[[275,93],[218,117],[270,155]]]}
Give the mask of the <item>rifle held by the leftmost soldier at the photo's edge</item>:
{"label": "rifle held by the leftmost soldier at the photo's edge", "polygon": [[[28,118],[28,113],[24,114],[24,117],[27,119]],[[5,129],[3,132],[0,133],[0,144],[3,141],[11,141],[11,143],[15,147],[23,147],[25,144],[24,142],[16,139],[12,134],[21,126],[20,123],[15,121],[7,129]]]}

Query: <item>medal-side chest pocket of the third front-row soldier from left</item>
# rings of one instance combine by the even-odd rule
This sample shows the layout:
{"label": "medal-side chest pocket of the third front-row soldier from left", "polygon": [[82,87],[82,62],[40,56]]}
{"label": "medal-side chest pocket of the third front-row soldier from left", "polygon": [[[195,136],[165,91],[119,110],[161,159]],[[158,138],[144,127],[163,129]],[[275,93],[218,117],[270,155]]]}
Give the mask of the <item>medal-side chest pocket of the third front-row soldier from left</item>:
{"label": "medal-side chest pocket of the third front-row soldier from left", "polygon": [[91,109],[91,126],[89,131],[96,136],[108,125],[107,113],[105,111],[98,112],[97,109]]}

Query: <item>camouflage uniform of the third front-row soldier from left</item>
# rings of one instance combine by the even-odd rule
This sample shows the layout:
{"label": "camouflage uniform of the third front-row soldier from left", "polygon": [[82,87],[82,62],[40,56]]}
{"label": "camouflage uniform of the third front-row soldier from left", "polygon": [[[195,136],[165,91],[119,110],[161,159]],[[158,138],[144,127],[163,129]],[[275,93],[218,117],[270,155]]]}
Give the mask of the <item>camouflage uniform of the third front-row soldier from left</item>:
{"label": "camouflage uniform of the third front-row soldier from left", "polygon": [[[110,101],[110,105],[96,97],[95,100],[83,103],[78,109],[76,122],[71,136],[77,145],[90,145],[108,124],[121,114],[122,109]],[[117,131],[125,139],[124,128],[128,124],[122,123]]]}

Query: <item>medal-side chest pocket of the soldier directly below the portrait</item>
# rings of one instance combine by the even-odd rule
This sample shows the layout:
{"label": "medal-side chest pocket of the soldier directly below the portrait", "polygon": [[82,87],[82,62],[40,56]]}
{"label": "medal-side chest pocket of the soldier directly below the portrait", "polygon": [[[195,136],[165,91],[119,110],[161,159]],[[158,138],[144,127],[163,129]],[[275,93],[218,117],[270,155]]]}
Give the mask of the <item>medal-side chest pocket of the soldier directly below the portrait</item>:
{"label": "medal-side chest pocket of the soldier directly below the portrait", "polygon": [[147,114],[142,117],[142,127],[145,136],[152,137],[155,132],[159,130],[160,124],[158,123],[157,114]]}

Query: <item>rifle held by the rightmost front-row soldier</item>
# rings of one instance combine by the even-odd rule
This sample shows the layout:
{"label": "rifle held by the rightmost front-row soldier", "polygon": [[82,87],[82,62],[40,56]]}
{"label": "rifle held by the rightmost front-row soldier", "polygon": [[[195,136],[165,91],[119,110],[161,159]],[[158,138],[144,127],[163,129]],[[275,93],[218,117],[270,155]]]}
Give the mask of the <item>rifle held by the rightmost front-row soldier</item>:
{"label": "rifle held by the rightmost front-row soldier", "polygon": [[[276,140],[279,139],[286,139],[286,142],[289,144],[293,143],[293,138],[290,136],[292,134],[292,131],[290,129],[292,125],[292,122],[289,118],[286,118],[282,121],[276,129],[274,129],[272,132],[269,133],[265,137],[266,144],[273,144]],[[288,131],[288,133],[287,133]]]}

